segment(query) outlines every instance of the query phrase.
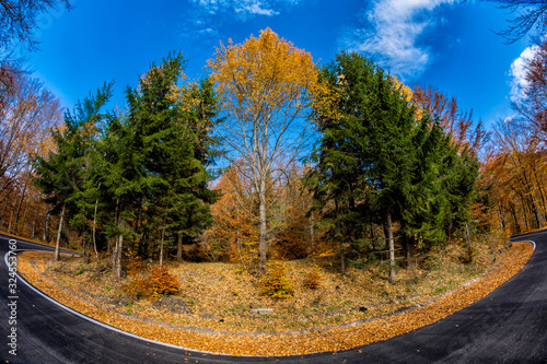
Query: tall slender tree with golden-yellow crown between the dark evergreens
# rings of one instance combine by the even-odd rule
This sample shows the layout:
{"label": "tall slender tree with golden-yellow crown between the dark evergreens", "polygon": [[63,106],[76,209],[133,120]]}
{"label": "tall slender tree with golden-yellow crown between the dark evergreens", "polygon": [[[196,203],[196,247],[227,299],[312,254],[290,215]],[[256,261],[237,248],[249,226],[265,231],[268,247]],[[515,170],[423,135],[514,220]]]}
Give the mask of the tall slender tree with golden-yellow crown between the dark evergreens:
{"label": "tall slender tree with golden-yellow crown between the dark evergreens", "polygon": [[241,45],[229,43],[209,60],[223,113],[216,131],[228,146],[226,158],[242,160],[258,197],[258,272],[266,270],[269,242],[268,190],[283,167],[295,161],[312,133],[306,114],[318,90],[318,70],[310,54],[271,30]]}

